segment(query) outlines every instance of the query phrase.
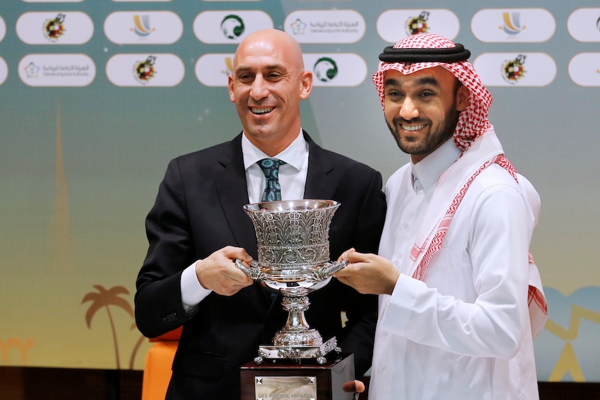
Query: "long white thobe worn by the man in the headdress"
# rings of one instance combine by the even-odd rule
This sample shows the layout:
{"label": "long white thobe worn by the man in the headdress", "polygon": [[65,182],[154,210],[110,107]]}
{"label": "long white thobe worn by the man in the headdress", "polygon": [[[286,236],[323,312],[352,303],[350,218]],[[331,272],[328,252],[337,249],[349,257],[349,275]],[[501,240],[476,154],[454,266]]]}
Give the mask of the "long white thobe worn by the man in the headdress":
{"label": "long white thobe worn by the man in the headdress", "polygon": [[372,400],[539,398],[528,312],[528,249],[538,212],[530,202],[539,206],[539,198],[529,182],[530,202],[507,170],[483,170],[424,280],[411,278],[409,254],[423,214],[459,155],[450,140],[386,184],[379,254],[401,275],[393,294],[379,298]]}

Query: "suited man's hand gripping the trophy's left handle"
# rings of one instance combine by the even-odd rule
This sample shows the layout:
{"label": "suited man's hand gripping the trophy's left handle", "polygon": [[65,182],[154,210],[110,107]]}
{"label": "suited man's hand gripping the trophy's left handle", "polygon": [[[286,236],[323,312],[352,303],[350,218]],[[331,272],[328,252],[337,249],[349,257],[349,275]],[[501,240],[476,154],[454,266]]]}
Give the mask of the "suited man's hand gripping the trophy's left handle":
{"label": "suited man's hand gripping the trophy's left handle", "polygon": [[252,285],[254,281],[235,266],[235,259],[246,264],[252,261],[243,248],[227,246],[196,262],[196,277],[200,285],[223,296],[231,296]]}

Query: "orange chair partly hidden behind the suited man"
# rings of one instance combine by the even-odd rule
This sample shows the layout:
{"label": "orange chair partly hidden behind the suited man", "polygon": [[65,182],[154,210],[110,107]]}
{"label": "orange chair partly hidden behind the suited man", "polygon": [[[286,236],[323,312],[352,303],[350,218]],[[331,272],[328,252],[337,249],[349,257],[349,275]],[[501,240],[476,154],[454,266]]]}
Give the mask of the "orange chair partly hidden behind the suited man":
{"label": "orange chair partly hidden behind the suited man", "polygon": [[146,353],[142,400],[164,400],[168,382],[171,380],[171,366],[179,344],[181,329],[180,327],[150,339],[154,344]]}

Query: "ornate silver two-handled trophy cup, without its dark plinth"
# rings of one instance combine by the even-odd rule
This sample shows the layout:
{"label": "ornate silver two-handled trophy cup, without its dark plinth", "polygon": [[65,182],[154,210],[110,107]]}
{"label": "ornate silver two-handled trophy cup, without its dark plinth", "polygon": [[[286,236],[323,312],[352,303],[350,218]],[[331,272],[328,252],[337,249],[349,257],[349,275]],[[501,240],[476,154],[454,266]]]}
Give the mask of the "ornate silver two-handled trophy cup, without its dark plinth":
{"label": "ornate silver two-handled trophy cup, without its dark plinth", "polygon": [[340,352],[335,337],[323,342],[310,328],[304,312],[310,305],[308,294],[327,285],[345,261],[329,261],[329,224],[339,202],[333,200],[282,200],[244,206],[258,239],[258,261],[250,267],[239,259],[237,268],[250,278],[280,291],[281,304],[288,312],[287,322],[274,337],[273,346],[260,346],[256,364],[265,358],[311,358],[326,362],[330,351]]}

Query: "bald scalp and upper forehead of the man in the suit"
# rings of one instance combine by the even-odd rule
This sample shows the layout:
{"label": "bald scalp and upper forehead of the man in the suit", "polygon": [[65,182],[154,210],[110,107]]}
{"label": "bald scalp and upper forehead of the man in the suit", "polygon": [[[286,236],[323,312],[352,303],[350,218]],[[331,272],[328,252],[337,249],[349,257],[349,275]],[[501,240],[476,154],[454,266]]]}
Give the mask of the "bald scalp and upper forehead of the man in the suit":
{"label": "bald scalp and upper forehead of the man in the suit", "polygon": [[288,67],[298,71],[304,70],[302,49],[299,43],[291,35],[278,29],[262,29],[246,36],[235,51],[233,58],[234,70],[240,59],[248,54],[280,55],[279,58],[285,59]]}

